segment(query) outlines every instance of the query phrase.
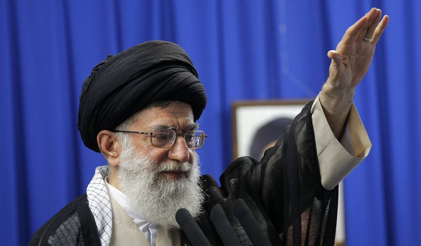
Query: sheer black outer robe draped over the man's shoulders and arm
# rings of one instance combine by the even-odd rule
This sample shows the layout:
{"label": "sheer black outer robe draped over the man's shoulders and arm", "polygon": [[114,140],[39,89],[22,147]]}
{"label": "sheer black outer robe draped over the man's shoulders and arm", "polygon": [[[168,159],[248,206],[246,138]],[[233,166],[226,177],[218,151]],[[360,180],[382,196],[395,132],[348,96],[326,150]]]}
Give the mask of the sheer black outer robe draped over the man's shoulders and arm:
{"label": "sheer black outer robe draped over the man's shoulders and arm", "polygon": [[[197,219],[213,245],[223,245],[209,214],[220,204],[243,245],[252,245],[232,208],[242,198],[272,245],[333,245],[338,203],[337,187],[324,189],[320,182],[309,102],[275,146],[260,161],[235,160],[220,177],[201,176],[208,199]],[[76,198],[40,228],[30,245],[99,245],[99,235],[86,195]]]}

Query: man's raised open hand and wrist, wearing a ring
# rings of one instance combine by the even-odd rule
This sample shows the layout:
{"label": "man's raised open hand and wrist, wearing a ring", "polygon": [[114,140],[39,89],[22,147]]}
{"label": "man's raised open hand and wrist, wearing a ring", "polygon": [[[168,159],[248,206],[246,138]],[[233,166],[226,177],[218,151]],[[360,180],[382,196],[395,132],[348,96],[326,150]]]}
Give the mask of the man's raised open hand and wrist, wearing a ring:
{"label": "man's raised open hand and wrist, wearing a ring", "polygon": [[339,138],[350,110],[355,87],[366,75],[376,44],[385,31],[389,16],[381,21],[381,10],[372,8],[348,28],[336,47],[330,50],[332,59],[329,78],[319,94],[324,115],[334,135]]}

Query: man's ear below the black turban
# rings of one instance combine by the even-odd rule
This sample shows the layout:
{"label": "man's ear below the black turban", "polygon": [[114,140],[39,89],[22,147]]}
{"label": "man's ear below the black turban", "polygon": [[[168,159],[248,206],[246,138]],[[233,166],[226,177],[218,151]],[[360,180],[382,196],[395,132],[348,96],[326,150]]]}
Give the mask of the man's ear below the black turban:
{"label": "man's ear below the black turban", "polygon": [[119,156],[121,154],[121,144],[117,135],[111,131],[102,130],[97,135],[97,142],[108,164],[117,168],[120,164]]}

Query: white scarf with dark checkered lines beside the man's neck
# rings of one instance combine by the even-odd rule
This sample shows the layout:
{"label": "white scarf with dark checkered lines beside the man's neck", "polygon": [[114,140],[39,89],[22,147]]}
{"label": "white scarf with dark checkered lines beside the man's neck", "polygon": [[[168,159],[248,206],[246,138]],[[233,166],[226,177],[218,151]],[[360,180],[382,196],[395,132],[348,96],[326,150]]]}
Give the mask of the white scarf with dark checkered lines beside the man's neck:
{"label": "white scarf with dark checkered lines beside the man's neck", "polygon": [[106,246],[110,244],[112,230],[111,202],[104,182],[108,172],[108,166],[97,167],[86,188],[89,208],[95,218],[95,223],[97,223],[101,245]]}

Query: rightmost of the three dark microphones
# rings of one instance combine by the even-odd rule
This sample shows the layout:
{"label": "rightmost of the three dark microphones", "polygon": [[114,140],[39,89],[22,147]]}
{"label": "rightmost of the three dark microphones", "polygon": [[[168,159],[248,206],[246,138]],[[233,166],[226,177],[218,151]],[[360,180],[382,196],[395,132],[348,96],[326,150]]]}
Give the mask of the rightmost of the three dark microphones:
{"label": "rightmost of the three dark microphones", "polygon": [[250,211],[243,199],[239,198],[235,200],[233,211],[254,246],[271,245],[271,243],[267,241],[266,236],[257,223],[256,218],[252,214],[252,211]]}

